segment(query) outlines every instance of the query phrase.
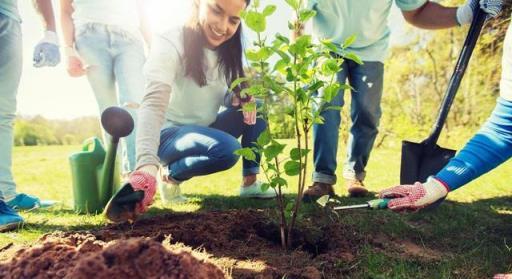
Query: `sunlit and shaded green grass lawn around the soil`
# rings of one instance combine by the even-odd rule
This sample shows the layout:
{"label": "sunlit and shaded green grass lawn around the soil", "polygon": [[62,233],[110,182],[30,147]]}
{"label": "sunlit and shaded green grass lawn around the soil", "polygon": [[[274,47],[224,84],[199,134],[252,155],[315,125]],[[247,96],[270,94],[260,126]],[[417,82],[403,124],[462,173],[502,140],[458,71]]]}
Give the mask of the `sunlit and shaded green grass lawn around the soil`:
{"label": "sunlit and shaded green grass lawn around the soil", "polygon": [[[105,224],[101,215],[77,215],[72,209],[68,156],[79,149],[79,146],[15,148],[14,175],[18,191],[61,203],[50,210],[23,212],[24,228],[0,234],[0,247],[10,243],[28,245],[41,235],[56,230],[91,229]],[[344,147],[340,149],[339,158],[344,158]],[[399,166],[397,146],[374,150],[366,179],[369,189],[378,192],[397,184]],[[275,207],[273,201],[238,199],[240,173],[241,163],[231,170],[184,183],[182,190],[190,203],[170,209],[192,212]],[[441,255],[435,261],[422,261],[365,246],[351,274],[362,278],[482,278],[498,272],[512,272],[511,173],[512,163],[508,162],[450,194],[448,202],[433,212],[399,215],[387,211],[363,211],[341,216],[340,222],[356,226],[363,235],[382,233],[397,242],[414,240]],[[292,189],[289,191],[293,192]],[[336,191],[345,195],[342,186],[336,186]],[[363,200],[342,198],[347,204]],[[164,210],[168,209],[157,201],[150,213],[158,214]]]}

